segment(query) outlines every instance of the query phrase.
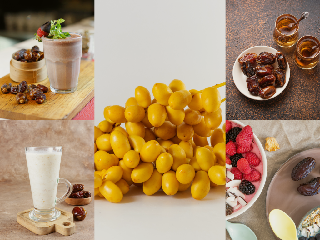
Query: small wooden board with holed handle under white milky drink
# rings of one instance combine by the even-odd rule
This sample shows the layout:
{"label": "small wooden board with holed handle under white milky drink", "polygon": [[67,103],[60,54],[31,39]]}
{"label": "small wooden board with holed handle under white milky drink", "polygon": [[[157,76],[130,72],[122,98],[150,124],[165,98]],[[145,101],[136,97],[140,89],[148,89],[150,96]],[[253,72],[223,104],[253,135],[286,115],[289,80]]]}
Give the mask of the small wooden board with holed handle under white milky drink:
{"label": "small wooden board with holed handle under white milky drink", "polygon": [[51,222],[33,221],[29,218],[29,212],[33,210],[31,208],[17,213],[17,223],[38,235],[47,235],[53,232],[58,232],[64,236],[74,234],[76,225],[73,222],[73,214],[60,208],[56,209],[61,212],[61,216],[57,220]]}

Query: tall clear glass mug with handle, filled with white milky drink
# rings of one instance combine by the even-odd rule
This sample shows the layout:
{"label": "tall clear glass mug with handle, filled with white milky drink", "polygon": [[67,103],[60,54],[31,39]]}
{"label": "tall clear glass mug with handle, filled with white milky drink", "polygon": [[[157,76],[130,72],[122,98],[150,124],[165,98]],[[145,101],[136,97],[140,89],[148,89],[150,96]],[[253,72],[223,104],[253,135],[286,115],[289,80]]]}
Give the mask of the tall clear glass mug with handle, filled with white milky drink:
{"label": "tall clear glass mug with handle, filled with white milky drink", "polygon": [[[64,201],[72,190],[71,183],[59,178],[62,147],[25,147],[34,210],[29,218],[48,222],[60,217],[55,205]],[[67,185],[67,192],[57,198],[58,183]]]}

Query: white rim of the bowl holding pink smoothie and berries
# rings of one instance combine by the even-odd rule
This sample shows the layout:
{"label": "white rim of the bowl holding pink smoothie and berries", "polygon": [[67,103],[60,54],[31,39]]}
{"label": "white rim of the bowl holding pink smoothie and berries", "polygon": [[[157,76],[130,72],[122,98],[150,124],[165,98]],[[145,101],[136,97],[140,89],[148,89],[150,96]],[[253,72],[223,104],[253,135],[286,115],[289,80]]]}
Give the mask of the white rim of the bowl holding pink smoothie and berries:
{"label": "white rim of the bowl holding pink smoothie and berries", "polygon": [[[243,123],[241,123],[239,121],[236,121],[236,120],[229,120],[229,121],[240,125],[242,128],[245,126]],[[266,157],[266,153],[264,152],[264,148],[263,148],[260,140],[257,138],[257,136],[254,133],[253,133],[253,139],[258,145],[258,148],[259,148],[259,151],[260,151],[261,157],[262,157],[262,163],[263,163],[263,172],[262,172],[260,186],[258,188],[257,193],[254,195],[254,197],[251,199],[251,201],[247,205],[245,205],[243,208],[241,208],[239,211],[236,211],[236,212],[226,216],[226,220],[235,218],[236,216],[239,216],[241,213],[244,213],[245,211],[247,211],[254,204],[254,202],[257,201],[258,197],[260,196],[260,194],[262,192],[264,184],[266,183],[266,179],[267,179],[267,157]]]}

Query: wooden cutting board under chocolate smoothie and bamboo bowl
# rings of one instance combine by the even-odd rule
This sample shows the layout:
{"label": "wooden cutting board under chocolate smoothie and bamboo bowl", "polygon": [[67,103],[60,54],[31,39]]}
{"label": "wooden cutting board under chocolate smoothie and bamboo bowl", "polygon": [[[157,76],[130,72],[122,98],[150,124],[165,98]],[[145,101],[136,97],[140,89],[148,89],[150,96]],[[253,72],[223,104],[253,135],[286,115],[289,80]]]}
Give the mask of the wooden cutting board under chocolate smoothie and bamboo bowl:
{"label": "wooden cutting board under chocolate smoothie and bamboo bowl", "polygon": [[[9,74],[0,78],[0,86],[7,82],[12,83],[12,86],[18,84],[10,79]],[[29,95],[27,104],[17,104],[16,95],[0,91],[0,117],[17,120],[72,119],[94,97],[94,62],[81,60],[76,92],[69,94],[51,92],[48,77],[36,84],[49,87],[49,91],[45,93],[47,100],[43,104],[37,104]]]}

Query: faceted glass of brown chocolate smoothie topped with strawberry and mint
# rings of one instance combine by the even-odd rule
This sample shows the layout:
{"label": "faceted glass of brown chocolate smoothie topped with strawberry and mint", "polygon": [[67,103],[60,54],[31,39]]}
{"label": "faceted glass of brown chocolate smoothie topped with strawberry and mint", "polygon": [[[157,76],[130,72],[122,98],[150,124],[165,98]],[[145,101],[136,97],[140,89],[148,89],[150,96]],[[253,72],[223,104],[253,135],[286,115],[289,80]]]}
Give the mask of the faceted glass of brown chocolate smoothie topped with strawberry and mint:
{"label": "faceted glass of brown chocolate smoothie topped with strawberry and mint", "polygon": [[82,35],[80,33],[70,33],[70,35],[65,39],[43,37],[50,89],[54,93],[71,93],[78,87]]}

